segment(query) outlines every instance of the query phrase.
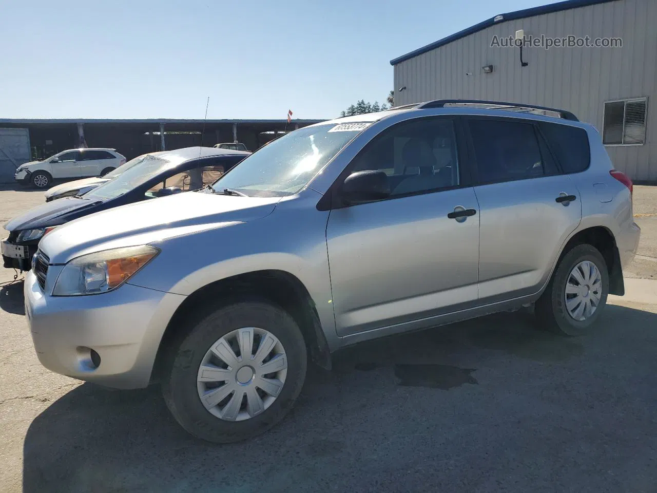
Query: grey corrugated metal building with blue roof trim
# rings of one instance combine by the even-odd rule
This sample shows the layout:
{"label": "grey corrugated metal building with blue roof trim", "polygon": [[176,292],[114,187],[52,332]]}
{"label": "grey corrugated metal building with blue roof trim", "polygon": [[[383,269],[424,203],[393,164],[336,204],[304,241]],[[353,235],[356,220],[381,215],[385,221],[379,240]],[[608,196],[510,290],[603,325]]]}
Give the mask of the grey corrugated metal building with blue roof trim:
{"label": "grey corrugated metal building with blue roof trim", "polygon": [[657,181],[656,22],[657,0],[500,14],[391,60],[395,106],[485,99],[570,110],[595,125],[616,168]]}

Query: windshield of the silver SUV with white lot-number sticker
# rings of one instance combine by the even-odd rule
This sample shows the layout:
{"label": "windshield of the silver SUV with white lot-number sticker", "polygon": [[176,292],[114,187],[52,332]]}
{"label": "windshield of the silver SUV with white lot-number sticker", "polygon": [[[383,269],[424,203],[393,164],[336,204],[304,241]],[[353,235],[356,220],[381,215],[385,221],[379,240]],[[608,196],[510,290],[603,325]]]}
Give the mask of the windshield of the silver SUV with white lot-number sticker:
{"label": "windshield of the silver SUV with white lot-number sticker", "polygon": [[362,125],[306,127],[279,137],[240,162],[212,184],[254,197],[294,195],[363,129]]}

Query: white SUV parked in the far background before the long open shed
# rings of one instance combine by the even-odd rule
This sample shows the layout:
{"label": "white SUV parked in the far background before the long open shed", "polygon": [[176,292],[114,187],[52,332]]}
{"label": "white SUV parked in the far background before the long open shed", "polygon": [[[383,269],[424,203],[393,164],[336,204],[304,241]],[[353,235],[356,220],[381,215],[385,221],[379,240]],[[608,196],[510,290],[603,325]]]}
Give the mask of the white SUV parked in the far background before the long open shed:
{"label": "white SUV parked in the far background before the long open shed", "polygon": [[125,156],[115,149],[69,149],[43,161],[21,164],[14,179],[24,185],[46,188],[53,179],[104,176],[125,164]]}

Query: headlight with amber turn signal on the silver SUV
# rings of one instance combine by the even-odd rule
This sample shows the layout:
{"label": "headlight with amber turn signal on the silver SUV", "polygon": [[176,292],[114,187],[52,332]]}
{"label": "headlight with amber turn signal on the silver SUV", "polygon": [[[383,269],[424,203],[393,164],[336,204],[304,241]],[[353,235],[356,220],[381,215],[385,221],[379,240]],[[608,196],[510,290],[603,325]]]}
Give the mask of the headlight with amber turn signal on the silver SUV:
{"label": "headlight with amber turn signal on the silver SUV", "polygon": [[148,245],[113,248],[74,258],[64,266],[53,296],[80,296],[112,291],[125,283],[160,250]]}

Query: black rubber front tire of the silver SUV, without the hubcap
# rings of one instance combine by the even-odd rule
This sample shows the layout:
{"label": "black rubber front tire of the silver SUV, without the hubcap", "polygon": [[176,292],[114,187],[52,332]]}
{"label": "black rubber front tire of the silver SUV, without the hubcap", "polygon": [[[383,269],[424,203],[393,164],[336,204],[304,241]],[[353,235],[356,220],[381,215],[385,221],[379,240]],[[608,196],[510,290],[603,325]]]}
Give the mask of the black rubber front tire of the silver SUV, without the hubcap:
{"label": "black rubber front tire of the silver SUV, without the hubcap", "polygon": [[[280,394],[269,408],[244,421],[224,421],[202,404],[196,377],[212,344],[242,327],[265,329],[279,339],[286,354],[287,373]],[[173,417],[189,433],[208,442],[238,442],[264,433],[283,419],[304,385],[306,365],[304,338],[287,312],[265,301],[234,302],[217,308],[195,323],[177,347],[171,348],[162,379],[162,394]]]}

